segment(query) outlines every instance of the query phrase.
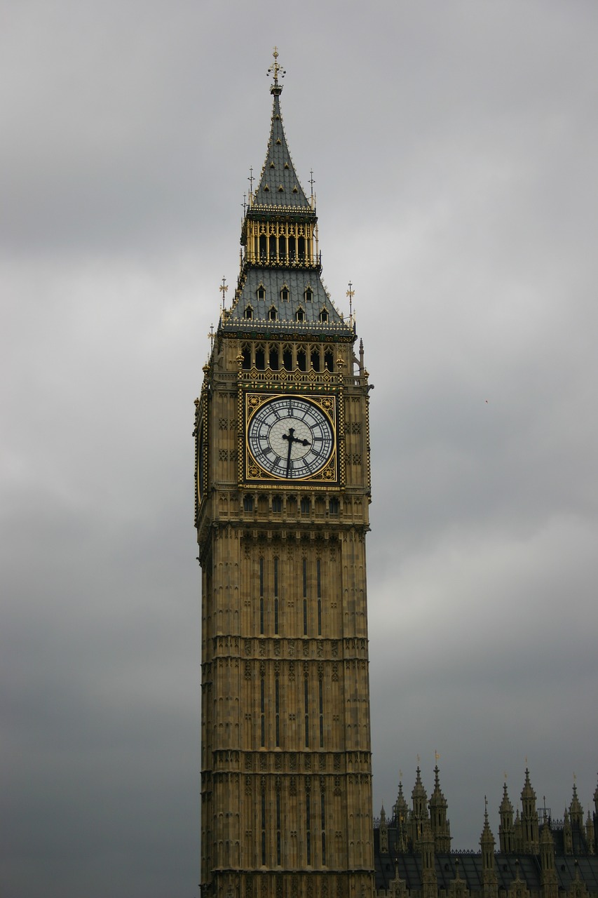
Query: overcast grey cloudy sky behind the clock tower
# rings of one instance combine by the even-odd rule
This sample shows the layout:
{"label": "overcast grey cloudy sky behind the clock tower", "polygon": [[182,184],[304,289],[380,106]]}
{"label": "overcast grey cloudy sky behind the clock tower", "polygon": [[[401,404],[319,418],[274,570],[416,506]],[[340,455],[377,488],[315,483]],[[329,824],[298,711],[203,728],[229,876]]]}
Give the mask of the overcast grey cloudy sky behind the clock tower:
{"label": "overcast grey cloudy sky behind the clock tower", "polygon": [[4,0],[7,898],[197,894],[193,399],[286,135],[372,394],[374,806],[598,770],[598,4]]}

